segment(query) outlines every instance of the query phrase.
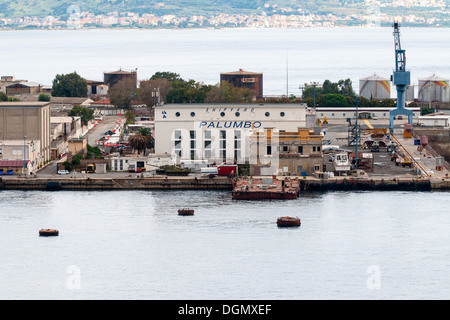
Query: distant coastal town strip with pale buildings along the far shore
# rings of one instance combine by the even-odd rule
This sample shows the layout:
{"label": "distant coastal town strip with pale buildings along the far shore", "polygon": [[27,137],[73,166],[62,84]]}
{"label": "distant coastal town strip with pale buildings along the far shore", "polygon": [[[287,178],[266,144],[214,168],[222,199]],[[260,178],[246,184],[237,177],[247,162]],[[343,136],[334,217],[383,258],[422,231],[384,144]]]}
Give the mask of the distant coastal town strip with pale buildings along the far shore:
{"label": "distant coastal town strip with pale buildings along the far shore", "polygon": [[[158,3],[158,9],[165,8]],[[393,20],[410,27],[449,27],[450,9],[443,0],[368,0],[358,10],[306,10],[266,3],[255,13],[183,14],[170,10],[97,13],[72,5],[64,14],[0,16],[1,30],[96,28],[309,28],[391,26]],[[170,13],[170,14],[163,14]]]}

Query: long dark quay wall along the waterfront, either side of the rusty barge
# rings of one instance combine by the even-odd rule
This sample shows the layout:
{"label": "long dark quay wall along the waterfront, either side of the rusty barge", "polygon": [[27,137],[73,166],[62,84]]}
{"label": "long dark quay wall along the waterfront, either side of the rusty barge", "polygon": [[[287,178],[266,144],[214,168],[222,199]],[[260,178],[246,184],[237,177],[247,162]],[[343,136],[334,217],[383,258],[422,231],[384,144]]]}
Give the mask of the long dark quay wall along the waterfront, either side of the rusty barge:
{"label": "long dark quay wall along the waterfront, either side of the rusty barge", "polygon": [[[49,187],[53,184],[53,188]],[[56,186],[56,187],[55,187]],[[450,190],[450,180],[428,178],[300,178],[301,191]],[[232,190],[228,178],[0,178],[0,190]]]}

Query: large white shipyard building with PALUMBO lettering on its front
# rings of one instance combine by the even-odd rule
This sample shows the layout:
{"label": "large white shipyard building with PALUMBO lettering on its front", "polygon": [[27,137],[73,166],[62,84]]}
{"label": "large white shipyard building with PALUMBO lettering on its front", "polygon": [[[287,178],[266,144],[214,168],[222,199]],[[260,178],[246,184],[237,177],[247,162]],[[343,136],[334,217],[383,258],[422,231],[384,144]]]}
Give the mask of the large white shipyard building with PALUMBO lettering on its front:
{"label": "large white shipyard building with PALUMBO lettering on its front", "polygon": [[155,153],[178,163],[243,163],[252,132],[294,132],[314,125],[315,111],[306,104],[168,104],[155,107]]}

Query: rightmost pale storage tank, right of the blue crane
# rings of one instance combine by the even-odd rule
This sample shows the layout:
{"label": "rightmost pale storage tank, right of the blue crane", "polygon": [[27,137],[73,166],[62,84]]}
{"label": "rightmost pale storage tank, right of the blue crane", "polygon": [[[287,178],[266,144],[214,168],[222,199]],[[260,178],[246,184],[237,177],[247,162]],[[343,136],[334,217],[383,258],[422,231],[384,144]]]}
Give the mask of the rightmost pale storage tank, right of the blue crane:
{"label": "rightmost pale storage tank, right of the blue crane", "polygon": [[422,102],[450,102],[448,79],[436,75],[419,79],[419,101]]}

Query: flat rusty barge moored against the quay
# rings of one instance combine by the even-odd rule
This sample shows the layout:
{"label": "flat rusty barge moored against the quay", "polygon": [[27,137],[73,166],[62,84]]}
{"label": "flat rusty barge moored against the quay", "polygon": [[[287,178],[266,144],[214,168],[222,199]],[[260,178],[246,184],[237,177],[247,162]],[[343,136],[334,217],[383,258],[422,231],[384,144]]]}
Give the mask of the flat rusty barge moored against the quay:
{"label": "flat rusty barge moored against the quay", "polygon": [[233,199],[297,199],[300,181],[290,178],[278,180],[275,177],[239,178],[233,185]]}

